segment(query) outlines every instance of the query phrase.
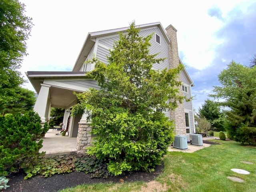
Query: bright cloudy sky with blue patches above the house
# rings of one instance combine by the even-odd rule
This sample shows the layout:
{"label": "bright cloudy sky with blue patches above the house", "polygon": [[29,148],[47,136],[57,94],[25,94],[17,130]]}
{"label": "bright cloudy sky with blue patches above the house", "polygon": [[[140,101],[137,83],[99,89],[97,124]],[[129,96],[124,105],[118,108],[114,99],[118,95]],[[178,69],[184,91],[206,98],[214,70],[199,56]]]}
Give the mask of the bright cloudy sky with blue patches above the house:
{"label": "bright cloudy sky with blue patches above the house", "polygon": [[[198,111],[218,74],[256,54],[256,0],[20,0],[34,26],[20,71],[72,71],[88,32],[161,22],[177,32],[179,56]],[[34,91],[30,82],[23,85]],[[210,98],[212,99],[212,98]]]}

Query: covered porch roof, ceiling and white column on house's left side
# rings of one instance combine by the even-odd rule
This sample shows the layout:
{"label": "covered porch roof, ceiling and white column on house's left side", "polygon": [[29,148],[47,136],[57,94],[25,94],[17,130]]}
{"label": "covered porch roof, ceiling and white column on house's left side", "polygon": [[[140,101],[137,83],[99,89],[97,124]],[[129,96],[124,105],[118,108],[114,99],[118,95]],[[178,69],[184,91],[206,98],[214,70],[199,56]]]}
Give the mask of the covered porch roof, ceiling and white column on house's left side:
{"label": "covered porch roof, ceiling and white column on house's left side", "polygon": [[88,78],[86,72],[28,71],[26,75],[38,94],[34,111],[41,117],[42,124],[49,122],[52,107],[64,108],[62,129],[67,130],[68,137],[76,138],[79,122],[85,122],[86,116],[70,115],[72,106],[78,102],[74,93],[85,92],[89,88],[99,89],[97,82]]}

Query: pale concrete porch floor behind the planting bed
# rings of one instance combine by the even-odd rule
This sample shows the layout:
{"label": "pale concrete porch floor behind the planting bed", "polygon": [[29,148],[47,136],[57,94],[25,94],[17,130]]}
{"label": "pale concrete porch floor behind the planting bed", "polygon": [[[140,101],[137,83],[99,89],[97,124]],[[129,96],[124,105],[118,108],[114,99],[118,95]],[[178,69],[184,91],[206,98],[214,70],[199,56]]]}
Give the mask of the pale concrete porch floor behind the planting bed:
{"label": "pale concrete porch floor behind the planting bed", "polygon": [[39,152],[46,152],[46,156],[63,155],[68,152],[76,152],[76,137],[57,135],[60,131],[48,130],[43,139],[43,147]]}

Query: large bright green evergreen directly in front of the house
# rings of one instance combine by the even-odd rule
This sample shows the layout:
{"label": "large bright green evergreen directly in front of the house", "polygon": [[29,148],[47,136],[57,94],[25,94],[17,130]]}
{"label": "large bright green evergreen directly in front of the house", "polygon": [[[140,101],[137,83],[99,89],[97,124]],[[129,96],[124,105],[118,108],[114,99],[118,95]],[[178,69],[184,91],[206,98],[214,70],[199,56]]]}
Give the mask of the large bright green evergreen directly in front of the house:
{"label": "large bright green evergreen directly in front of the house", "polygon": [[164,58],[150,55],[152,34],[142,37],[139,32],[132,22],[110,50],[108,64],[91,61],[95,70],[88,76],[101,89],[78,94],[80,104],[72,109],[73,114],[91,111],[92,133],[97,137],[88,154],[106,160],[115,175],[160,164],[174,139],[174,124],[156,109],[174,110],[184,100],[177,80],[182,66],[153,70],[153,64]]}

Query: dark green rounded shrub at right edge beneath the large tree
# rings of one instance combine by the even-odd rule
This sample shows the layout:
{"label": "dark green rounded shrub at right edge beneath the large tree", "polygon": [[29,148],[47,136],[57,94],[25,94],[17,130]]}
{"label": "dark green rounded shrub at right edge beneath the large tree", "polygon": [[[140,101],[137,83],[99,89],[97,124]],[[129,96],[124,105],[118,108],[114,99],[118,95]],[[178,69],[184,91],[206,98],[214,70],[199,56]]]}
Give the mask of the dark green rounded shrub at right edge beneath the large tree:
{"label": "dark green rounded shrub at right edge beneath the large tree", "polygon": [[238,128],[234,140],[242,144],[256,145],[256,128],[246,126]]}

